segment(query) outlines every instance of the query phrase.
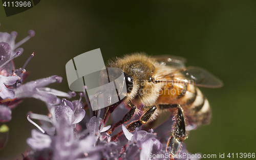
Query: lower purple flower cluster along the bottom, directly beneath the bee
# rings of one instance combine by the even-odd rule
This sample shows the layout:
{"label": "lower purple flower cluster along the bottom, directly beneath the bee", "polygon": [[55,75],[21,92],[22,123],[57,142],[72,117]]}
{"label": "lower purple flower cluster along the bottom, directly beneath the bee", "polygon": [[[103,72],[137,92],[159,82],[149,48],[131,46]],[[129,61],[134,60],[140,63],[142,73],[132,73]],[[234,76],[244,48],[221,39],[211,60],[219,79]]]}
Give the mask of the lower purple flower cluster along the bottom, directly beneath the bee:
{"label": "lower purple flower cluster along the bottom, directly beneath the bee", "polygon": [[[70,102],[62,99],[59,105],[48,104],[48,108],[52,117],[31,114],[31,118],[48,121],[51,128],[42,127],[47,131],[46,140],[41,138],[45,135],[32,132],[32,138],[28,139],[28,144],[33,149],[30,153],[30,159],[76,159],[76,160],[97,160],[97,159],[169,159],[170,153],[166,152],[166,144],[162,144],[157,139],[157,133],[153,129],[148,132],[135,129],[134,133],[130,133],[124,125],[122,125],[123,135],[117,140],[112,141],[112,137],[105,133],[110,126],[104,127],[98,117],[88,118],[88,115],[79,111],[82,108],[81,95],[78,101]],[[78,107],[80,106],[80,107]],[[77,109],[78,110],[77,110]],[[83,110],[83,109],[82,109]],[[75,120],[76,114],[78,120]],[[86,120],[86,121],[84,121]],[[172,120],[171,120],[172,121]],[[74,124],[74,122],[77,122]],[[86,123],[86,128],[81,131],[75,129],[76,124]],[[170,122],[171,123],[171,122]],[[161,127],[158,128],[158,131]],[[52,133],[50,133],[52,129]],[[165,135],[163,134],[165,137]],[[49,145],[50,144],[50,145]],[[51,154],[50,154],[51,153]],[[191,154],[186,151],[185,145],[182,143],[176,160],[196,160],[198,157],[190,158]]]}

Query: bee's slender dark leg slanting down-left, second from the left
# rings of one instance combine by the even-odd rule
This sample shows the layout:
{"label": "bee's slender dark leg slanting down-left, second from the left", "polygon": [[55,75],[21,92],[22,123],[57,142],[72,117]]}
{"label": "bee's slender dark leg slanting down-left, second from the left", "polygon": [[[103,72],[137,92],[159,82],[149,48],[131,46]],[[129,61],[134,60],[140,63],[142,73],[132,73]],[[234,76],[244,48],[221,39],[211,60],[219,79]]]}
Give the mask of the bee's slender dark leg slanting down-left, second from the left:
{"label": "bee's slender dark leg slanting down-left, second from the left", "polygon": [[121,121],[115,123],[108,131],[106,131],[107,134],[110,135],[115,130],[116,127],[131,120],[131,118],[134,116],[134,113],[137,109],[137,107],[134,106],[133,104],[131,104],[131,107],[132,108],[126,113],[126,115],[123,116],[123,119]]}

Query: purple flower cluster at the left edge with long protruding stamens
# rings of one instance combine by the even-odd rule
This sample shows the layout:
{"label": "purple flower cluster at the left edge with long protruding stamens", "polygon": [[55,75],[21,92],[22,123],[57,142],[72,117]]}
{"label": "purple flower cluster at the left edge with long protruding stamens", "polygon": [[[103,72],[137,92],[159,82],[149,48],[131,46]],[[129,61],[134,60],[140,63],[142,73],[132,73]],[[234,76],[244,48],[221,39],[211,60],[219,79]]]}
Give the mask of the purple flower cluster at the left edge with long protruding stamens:
{"label": "purple flower cluster at the left edge with long protruding stamens", "polygon": [[[28,33],[29,36],[15,43],[17,32],[11,34],[0,32],[0,122],[2,123],[11,120],[12,109],[24,98],[36,98],[47,104],[58,104],[60,99],[57,96],[68,98],[72,97],[72,94],[74,96],[74,93],[71,92],[64,93],[46,87],[54,82],[60,83],[62,78],[59,76],[51,76],[23,84],[24,79],[28,76],[25,67],[34,53],[31,54],[23,67],[18,69],[15,69],[13,59],[23,53],[23,48],[18,48],[19,45],[35,35],[33,30]],[[7,127],[6,125],[2,126]],[[7,138],[3,140],[3,137],[0,137],[0,139],[2,140],[0,146],[4,146],[3,144],[6,143]]]}

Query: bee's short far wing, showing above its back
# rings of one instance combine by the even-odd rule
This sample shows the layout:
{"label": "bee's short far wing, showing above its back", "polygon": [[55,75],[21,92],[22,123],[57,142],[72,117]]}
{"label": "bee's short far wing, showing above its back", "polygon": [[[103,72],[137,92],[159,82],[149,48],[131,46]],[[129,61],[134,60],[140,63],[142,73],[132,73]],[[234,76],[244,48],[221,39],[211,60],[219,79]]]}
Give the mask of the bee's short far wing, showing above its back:
{"label": "bee's short far wing, showing above its back", "polygon": [[163,65],[170,65],[176,68],[185,68],[186,59],[172,55],[153,56],[155,60]]}

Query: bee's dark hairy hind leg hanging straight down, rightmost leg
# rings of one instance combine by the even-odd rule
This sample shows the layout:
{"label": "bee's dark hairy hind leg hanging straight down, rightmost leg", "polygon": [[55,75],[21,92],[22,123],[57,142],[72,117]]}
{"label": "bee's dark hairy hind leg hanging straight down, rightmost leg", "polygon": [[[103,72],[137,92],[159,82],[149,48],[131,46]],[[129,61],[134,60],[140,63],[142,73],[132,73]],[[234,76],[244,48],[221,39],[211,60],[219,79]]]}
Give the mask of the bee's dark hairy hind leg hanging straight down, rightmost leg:
{"label": "bee's dark hairy hind leg hanging straight down, rightmost leg", "polygon": [[169,153],[172,154],[172,157],[175,157],[175,155],[180,151],[181,142],[187,138],[183,110],[180,105],[178,105],[177,109],[178,111],[174,131],[166,145],[166,151],[167,148],[170,147]]}

